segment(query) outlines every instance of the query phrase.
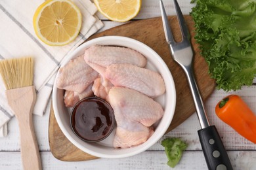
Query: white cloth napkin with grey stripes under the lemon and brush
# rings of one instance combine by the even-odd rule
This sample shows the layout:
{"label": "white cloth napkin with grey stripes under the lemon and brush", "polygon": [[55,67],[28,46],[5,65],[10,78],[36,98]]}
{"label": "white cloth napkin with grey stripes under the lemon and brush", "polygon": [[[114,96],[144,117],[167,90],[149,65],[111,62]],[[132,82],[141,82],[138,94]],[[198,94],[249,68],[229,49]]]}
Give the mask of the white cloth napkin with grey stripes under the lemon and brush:
{"label": "white cloth napkin with grey stripes under the lemon and brush", "polygon": [[[96,7],[90,0],[72,0],[81,10],[83,23],[75,41],[65,46],[48,46],[41,42],[33,29],[33,14],[43,0],[0,1],[0,59],[32,56],[33,85],[37,93],[34,114],[43,116],[49,106],[54,76],[62,60],[79,44],[96,33],[103,24],[96,17]],[[14,113],[7,104],[5,86],[0,78],[0,137],[7,135],[7,122]]]}

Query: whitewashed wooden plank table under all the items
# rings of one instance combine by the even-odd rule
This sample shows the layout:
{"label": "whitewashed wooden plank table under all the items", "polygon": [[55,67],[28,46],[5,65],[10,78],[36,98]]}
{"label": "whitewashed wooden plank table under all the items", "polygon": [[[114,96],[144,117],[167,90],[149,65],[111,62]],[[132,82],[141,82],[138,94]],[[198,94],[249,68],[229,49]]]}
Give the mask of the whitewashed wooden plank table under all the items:
{"label": "whitewashed wooden plank table under all the items", "polygon": [[[163,1],[168,15],[175,14],[172,1]],[[189,14],[193,5],[190,0],[178,1],[183,14]],[[110,22],[102,15],[98,14],[105,26],[100,31],[104,31],[110,27],[119,25],[120,23]],[[135,20],[153,18],[160,16],[160,7],[158,0],[142,0],[142,8]],[[236,133],[231,127],[224,124],[215,115],[215,105],[219,100],[229,93],[237,93],[256,113],[256,84],[251,87],[244,87],[237,92],[223,91],[213,92],[211,97],[205,103],[206,111],[209,117],[209,122],[215,124],[224,146],[228,150],[228,156],[234,169],[256,169],[256,144],[253,144]],[[166,137],[181,137],[188,148],[184,151],[182,159],[175,169],[207,169],[205,159],[203,157],[202,148],[198,139],[198,129],[200,124],[196,114],[193,114],[182,123],[179,127],[163,136],[158,143],[151,148],[130,158],[122,159],[97,159],[91,161],[65,162],[59,161],[51,154],[48,140],[48,124],[49,114],[43,117],[34,116],[35,133],[39,143],[41,161],[43,169],[171,169],[167,166],[167,157],[165,156],[164,148],[161,146],[161,140]],[[0,138],[0,169],[22,169],[20,158],[19,132],[18,122],[16,118],[8,124],[9,135]]]}

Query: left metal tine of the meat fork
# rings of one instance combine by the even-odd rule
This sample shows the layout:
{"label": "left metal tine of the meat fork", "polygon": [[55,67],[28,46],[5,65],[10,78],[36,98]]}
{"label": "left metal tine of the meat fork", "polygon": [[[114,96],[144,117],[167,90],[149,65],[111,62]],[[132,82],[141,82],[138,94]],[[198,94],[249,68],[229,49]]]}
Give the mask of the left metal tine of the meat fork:
{"label": "left metal tine of the meat fork", "polygon": [[165,32],[165,39],[168,44],[174,44],[175,41],[173,39],[173,33],[171,33],[167,14],[165,12],[165,8],[163,7],[163,1],[161,1],[161,0],[160,0],[160,7],[161,7],[161,18],[163,20],[163,30]]}

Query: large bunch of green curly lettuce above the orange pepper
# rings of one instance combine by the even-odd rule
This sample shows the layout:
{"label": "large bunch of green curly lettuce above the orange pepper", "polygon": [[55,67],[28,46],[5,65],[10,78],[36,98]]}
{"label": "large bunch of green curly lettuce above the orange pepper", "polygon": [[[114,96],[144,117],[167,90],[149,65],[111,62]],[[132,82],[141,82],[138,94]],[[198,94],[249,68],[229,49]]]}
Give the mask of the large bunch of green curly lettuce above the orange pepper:
{"label": "large bunch of green curly lettuce above the orange pepper", "polygon": [[256,76],[256,1],[197,0],[195,39],[217,89],[240,90]]}

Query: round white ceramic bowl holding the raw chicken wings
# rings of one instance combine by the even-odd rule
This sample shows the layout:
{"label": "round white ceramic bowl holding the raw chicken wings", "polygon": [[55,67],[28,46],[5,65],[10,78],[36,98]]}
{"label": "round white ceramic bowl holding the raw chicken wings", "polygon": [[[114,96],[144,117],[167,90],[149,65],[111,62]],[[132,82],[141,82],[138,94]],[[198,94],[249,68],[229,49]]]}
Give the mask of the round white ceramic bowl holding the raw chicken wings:
{"label": "round white ceramic bowl holding the raw chicken wings", "polygon": [[81,44],[81,46],[76,48],[72,54],[67,56],[62,65],[65,65],[68,61],[70,61],[70,59],[83,54],[85,48],[88,48],[94,44],[125,46],[137,50],[148,59],[146,68],[160,73],[165,82],[166,92],[155,99],[163,106],[163,117],[157,124],[154,125],[156,127],[154,134],[148,139],[148,141],[140,144],[139,146],[121,149],[113,148],[112,140],[115,131],[113,131],[109,137],[103,141],[100,141],[99,143],[87,143],[79,139],[79,137],[75,135],[74,131],[72,131],[72,127],[70,126],[70,109],[65,107],[63,101],[64,90],[56,88],[54,84],[53,109],[56,122],[71,143],[77,146],[77,148],[93,156],[97,156],[99,158],[125,158],[139,154],[155,144],[164,135],[165,131],[171,124],[176,105],[176,91],[173,77],[171,76],[171,73],[163,59],[161,59],[161,57],[154,50],[152,50],[152,48],[146,46],[142,42],[136,41],[135,39],[119,36],[100,37]]}

